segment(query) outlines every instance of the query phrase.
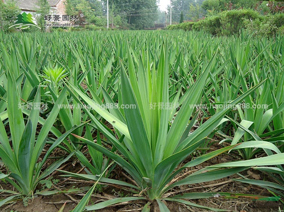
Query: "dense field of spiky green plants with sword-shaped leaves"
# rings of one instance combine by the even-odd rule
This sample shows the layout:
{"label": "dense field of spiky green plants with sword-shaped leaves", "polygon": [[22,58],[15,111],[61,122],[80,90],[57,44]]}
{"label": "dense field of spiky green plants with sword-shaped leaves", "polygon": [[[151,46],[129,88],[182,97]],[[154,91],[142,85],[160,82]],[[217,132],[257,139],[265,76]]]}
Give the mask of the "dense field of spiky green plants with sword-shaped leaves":
{"label": "dense field of spiky green plants with sword-shaped leaves", "polygon": [[283,35],[0,37],[0,210],[283,209]]}

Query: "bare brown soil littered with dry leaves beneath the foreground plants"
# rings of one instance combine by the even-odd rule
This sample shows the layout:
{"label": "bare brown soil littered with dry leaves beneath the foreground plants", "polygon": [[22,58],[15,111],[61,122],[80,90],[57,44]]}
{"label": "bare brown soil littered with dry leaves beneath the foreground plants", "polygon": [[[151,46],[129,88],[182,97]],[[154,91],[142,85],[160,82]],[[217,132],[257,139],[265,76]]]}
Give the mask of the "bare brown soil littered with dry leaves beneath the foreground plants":
{"label": "bare brown soil littered with dry leaves beneath the foreground plants", "polygon": [[[218,148],[216,145],[212,145],[210,148]],[[194,155],[193,155],[194,156]],[[191,156],[188,157],[184,162],[188,162],[191,160]],[[199,166],[193,167],[193,169],[200,169],[202,167],[210,166],[213,164],[217,164],[220,162],[226,162],[229,160],[233,160],[230,155],[221,155],[218,158],[212,158],[209,161],[206,161]],[[82,167],[79,163],[75,164],[74,161],[69,162],[63,166],[63,170],[67,170],[70,172],[80,172],[85,173],[82,170]],[[114,169],[116,173],[114,173],[111,178],[119,179],[126,182],[129,182],[122,174],[122,169],[117,167]],[[186,173],[190,170],[185,169],[183,173]],[[181,179],[185,176],[182,176]],[[57,188],[60,189],[68,189],[68,188],[80,188],[80,187],[91,187],[92,183],[87,181],[74,181],[73,178],[66,179],[65,177],[59,176],[62,173],[55,172],[53,174],[54,179],[58,179],[59,182],[56,185]],[[256,170],[246,170],[241,173],[244,176],[248,176],[250,179],[267,179],[267,176],[264,176],[262,172]],[[235,181],[231,181],[230,178],[238,178],[238,175],[233,175],[227,178],[219,179],[216,181],[211,182],[204,182],[200,184],[191,184],[187,186],[175,187],[173,190],[170,190],[172,194],[182,194],[182,193],[190,193],[190,192],[230,192],[230,193],[245,193],[245,194],[254,194],[254,195],[263,195],[263,196],[271,196],[271,194],[258,186],[243,184]],[[3,189],[13,189],[10,185],[7,184],[0,184]],[[55,189],[55,188],[51,188]],[[1,193],[0,193],[1,194]],[[0,212],[11,212],[11,211],[25,211],[25,212],[57,212],[62,205],[66,202],[64,211],[70,211],[75,208],[77,203],[80,201],[84,193],[69,193],[69,194],[56,194],[51,196],[34,196],[28,202],[28,206],[25,207],[23,202],[19,200],[18,202],[13,202],[10,204],[6,204],[0,208]],[[91,200],[89,201],[89,205],[95,204],[97,202],[105,201],[108,198],[116,198],[116,197],[123,197],[123,196],[131,196],[132,194],[121,190],[116,187],[105,187],[103,191],[94,193]],[[2,198],[3,196],[0,196]],[[278,203],[277,202],[263,202],[263,201],[252,201],[248,198],[239,198],[239,199],[225,199],[225,198],[210,198],[210,199],[196,199],[196,200],[189,200],[190,202],[204,205],[211,208],[219,208],[225,209],[229,211],[238,211],[238,212],[276,212],[278,211]],[[118,212],[118,211],[142,211],[143,205],[146,202],[134,202],[134,203],[126,203],[120,204],[112,207],[108,207],[105,209],[97,210],[98,212]],[[176,202],[165,202],[167,207],[170,209],[171,212],[201,212],[201,211],[208,211],[200,208],[195,208],[191,206],[187,206],[184,204],[176,203]],[[155,203],[151,204],[151,211],[159,211],[157,208],[154,207]],[[283,208],[283,206],[282,206]]]}

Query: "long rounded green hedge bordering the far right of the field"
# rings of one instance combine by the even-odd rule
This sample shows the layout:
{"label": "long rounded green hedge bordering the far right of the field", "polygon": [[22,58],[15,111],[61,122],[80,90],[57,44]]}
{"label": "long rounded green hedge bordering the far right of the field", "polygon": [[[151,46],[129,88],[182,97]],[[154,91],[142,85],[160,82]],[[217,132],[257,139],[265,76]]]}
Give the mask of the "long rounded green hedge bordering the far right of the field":
{"label": "long rounded green hedge bordering the far right of the field", "polygon": [[229,10],[209,16],[198,22],[184,22],[170,25],[168,29],[205,30],[213,35],[231,35],[246,28],[257,35],[276,33],[284,25],[284,14],[262,16],[254,10]]}

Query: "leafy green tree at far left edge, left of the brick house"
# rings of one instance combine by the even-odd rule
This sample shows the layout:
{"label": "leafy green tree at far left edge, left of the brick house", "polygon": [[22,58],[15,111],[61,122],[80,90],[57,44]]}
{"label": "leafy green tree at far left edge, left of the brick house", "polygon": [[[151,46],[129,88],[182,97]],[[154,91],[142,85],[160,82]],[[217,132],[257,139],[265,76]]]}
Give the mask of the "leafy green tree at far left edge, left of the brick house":
{"label": "leafy green tree at far left edge, left of the brick house", "polygon": [[16,6],[14,1],[10,0],[5,2],[4,4],[3,1],[0,0],[0,30],[8,32],[9,27],[13,25],[21,10]]}

